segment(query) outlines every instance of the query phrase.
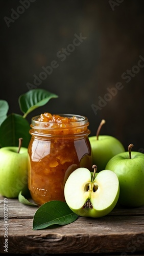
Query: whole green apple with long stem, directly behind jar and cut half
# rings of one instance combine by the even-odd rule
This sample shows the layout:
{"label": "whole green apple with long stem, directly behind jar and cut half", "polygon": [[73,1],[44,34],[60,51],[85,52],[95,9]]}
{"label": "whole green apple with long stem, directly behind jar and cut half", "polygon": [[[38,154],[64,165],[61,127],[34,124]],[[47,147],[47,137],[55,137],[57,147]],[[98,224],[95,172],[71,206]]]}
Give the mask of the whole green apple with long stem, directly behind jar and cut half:
{"label": "whole green apple with long stem, directly behind jar and cut half", "polygon": [[123,144],[115,137],[99,135],[104,123],[105,120],[103,119],[98,127],[97,135],[89,137],[92,152],[92,164],[97,164],[97,172],[105,169],[107,162],[113,156],[125,152]]}

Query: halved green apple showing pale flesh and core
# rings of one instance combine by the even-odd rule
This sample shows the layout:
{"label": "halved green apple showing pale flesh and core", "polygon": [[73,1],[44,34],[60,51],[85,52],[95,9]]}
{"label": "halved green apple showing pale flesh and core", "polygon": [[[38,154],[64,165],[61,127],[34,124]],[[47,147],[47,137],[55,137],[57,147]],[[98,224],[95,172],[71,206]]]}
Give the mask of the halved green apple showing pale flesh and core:
{"label": "halved green apple showing pale flesh and core", "polygon": [[69,208],[82,217],[103,217],[115,207],[119,197],[119,182],[111,170],[95,174],[85,167],[71,173],[64,186],[65,201]]}

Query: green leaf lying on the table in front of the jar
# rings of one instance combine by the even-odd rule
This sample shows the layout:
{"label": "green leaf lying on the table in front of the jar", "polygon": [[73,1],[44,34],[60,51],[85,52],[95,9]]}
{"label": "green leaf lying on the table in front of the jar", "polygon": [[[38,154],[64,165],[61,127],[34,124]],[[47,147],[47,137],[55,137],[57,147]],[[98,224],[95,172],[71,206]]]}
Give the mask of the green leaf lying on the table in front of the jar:
{"label": "green leaf lying on the table in front of the jar", "polygon": [[50,201],[42,204],[35,212],[33,230],[43,229],[52,225],[67,225],[79,216],[61,201]]}

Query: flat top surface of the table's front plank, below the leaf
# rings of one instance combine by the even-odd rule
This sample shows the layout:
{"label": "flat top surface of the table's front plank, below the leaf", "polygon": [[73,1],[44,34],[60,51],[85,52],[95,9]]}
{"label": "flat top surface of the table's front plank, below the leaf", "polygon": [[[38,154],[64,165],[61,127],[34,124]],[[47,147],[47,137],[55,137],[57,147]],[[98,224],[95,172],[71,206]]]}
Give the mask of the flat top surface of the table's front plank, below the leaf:
{"label": "flat top surface of the table's front plank, below the leaf", "polygon": [[[1,235],[4,232],[4,220],[0,221]],[[75,222],[64,226],[58,226],[42,230],[32,230],[33,219],[9,219],[8,230],[9,236],[22,236],[24,233],[34,235],[35,233],[60,233],[60,234],[86,234],[89,233],[94,236],[99,234],[139,234],[144,233],[144,221],[142,216],[122,216],[112,217],[105,216],[102,218],[86,218],[79,217]],[[143,241],[144,242],[144,241]]]}

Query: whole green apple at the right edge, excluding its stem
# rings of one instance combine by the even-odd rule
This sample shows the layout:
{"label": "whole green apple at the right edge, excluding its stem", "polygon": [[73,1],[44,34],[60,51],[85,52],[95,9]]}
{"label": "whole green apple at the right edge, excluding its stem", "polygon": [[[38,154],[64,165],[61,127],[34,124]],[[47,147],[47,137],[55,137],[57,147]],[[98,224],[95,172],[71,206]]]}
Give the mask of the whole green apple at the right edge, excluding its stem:
{"label": "whole green apple at the right edge, excluding its stem", "polygon": [[119,180],[118,202],[124,206],[139,207],[144,205],[144,154],[129,152],[111,158],[106,169],[112,170]]}

